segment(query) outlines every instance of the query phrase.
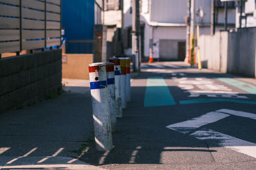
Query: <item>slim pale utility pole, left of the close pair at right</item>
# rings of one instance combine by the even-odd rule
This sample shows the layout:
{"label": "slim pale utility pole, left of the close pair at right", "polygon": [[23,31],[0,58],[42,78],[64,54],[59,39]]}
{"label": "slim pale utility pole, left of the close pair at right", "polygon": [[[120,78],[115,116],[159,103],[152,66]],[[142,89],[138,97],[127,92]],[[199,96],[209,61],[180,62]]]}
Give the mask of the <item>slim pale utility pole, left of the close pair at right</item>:
{"label": "slim pale utility pole, left of the close pair at right", "polygon": [[184,62],[188,62],[189,60],[189,36],[190,36],[190,8],[191,8],[191,0],[188,0],[188,10],[187,10],[187,17],[186,17],[186,24],[187,24],[187,33],[186,33],[186,58]]}

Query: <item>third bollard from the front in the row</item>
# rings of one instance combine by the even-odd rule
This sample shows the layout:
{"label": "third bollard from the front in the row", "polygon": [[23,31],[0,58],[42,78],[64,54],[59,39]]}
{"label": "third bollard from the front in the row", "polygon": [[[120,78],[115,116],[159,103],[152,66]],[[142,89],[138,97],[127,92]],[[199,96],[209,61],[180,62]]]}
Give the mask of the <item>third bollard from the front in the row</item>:
{"label": "third bollard from the front in the row", "polygon": [[121,66],[120,59],[111,58],[109,62],[113,62],[115,64],[115,92],[116,92],[116,108],[117,114],[116,117],[123,117],[122,111],[122,96],[121,96]]}

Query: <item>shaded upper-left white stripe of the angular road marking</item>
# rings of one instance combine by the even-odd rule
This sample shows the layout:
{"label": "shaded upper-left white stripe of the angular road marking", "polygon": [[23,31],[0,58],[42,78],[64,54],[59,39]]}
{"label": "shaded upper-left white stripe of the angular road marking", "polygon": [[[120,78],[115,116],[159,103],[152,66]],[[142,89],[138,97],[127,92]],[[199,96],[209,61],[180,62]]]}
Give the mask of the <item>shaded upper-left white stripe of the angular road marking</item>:
{"label": "shaded upper-left white stripe of the angular road marking", "polygon": [[189,131],[196,129],[198,127],[201,127],[203,125],[211,124],[213,122],[217,122],[218,120],[221,120],[225,117],[229,117],[230,115],[227,115],[225,113],[220,112],[209,112],[205,113],[204,115],[196,118],[191,118],[190,120],[186,120],[184,122],[179,122],[177,124],[172,124],[166,126],[169,129],[172,129],[174,131],[181,132],[183,134],[188,133]]}

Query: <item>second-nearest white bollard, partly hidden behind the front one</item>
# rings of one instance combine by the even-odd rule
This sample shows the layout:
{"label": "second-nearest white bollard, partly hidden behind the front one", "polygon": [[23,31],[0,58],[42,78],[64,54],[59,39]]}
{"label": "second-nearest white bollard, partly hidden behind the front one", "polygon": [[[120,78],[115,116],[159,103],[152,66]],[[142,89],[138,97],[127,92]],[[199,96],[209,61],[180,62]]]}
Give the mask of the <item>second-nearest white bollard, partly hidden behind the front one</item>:
{"label": "second-nearest white bollard, partly hidden behind the front one", "polygon": [[115,94],[115,73],[114,73],[114,63],[106,62],[107,71],[107,84],[108,84],[108,103],[109,103],[109,113],[112,132],[116,131],[116,94]]}

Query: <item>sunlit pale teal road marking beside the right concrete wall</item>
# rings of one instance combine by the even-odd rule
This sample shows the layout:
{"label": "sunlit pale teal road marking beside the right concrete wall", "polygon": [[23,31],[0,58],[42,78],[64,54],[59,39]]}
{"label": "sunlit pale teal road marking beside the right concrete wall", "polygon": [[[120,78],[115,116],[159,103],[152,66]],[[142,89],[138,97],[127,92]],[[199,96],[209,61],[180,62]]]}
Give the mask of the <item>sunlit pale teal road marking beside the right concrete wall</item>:
{"label": "sunlit pale teal road marking beside the right concrete wall", "polygon": [[244,83],[243,81],[235,80],[234,78],[218,78],[218,80],[244,90],[250,94],[256,94],[256,87],[249,83]]}

